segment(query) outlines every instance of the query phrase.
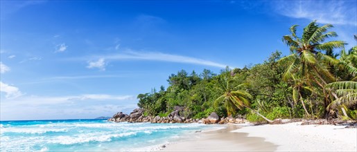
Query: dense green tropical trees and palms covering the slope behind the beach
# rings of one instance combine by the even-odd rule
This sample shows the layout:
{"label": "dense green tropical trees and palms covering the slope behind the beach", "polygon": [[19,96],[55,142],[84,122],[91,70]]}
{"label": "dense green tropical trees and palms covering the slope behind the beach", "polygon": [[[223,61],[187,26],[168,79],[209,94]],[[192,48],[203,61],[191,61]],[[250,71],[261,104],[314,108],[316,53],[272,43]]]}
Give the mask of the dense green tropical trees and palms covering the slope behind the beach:
{"label": "dense green tropical trees and palms covering the slope behind the beach", "polygon": [[[252,122],[277,118],[357,119],[357,46],[345,50],[333,26],[309,23],[302,36],[297,25],[282,41],[290,55],[275,51],[262,64],[229,67],[219,74],[204,69],[198,74],[180,70],[164,86],[138,95],[145,115],[166,116],[174,106],[184,107],[184,116],[220,117],[246,115]],[[352,37],[356,38],[356,35]],[[357,40],[357,39],[356,39]],[[338,53],[335,53],[338,52]]]}

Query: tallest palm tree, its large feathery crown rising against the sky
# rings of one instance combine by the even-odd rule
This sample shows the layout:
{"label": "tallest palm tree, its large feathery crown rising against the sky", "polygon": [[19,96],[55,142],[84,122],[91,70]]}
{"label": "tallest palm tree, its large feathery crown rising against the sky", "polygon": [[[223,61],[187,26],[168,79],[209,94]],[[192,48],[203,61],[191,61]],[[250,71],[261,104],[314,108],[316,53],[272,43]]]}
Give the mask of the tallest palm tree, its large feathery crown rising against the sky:
{"label": "tallest palm tree, its large feathery crown rising against the sky", "polygon": [[[309,86],[313,86],[315,83],[322,89],[329,82],[336,81],[336,77],[329,70],[329,65],[336,65],[339,61],[330,56],[332,55],[331,50],[344,48],[345,42],[328,41],[324,43],[325,39],[329,37],[337,37],[336,32],[326,32],[332,27],[331,24],[318,26],[316,21],[312,21],[304,28],[302,37],[296,35],[297,25],[290,27],[291,35],[285,35],[283,41],[290,46],[292,54],[279,60],[279,62],[289,65],[284,73],[285,81],[293,77],[302,77]],[[322,51],[326,51],[326,53],[324,54]],[[327,106],[329,94],[324,93],[324,95],[325,106]],[[336,95],[333,96],[336,97]]]}

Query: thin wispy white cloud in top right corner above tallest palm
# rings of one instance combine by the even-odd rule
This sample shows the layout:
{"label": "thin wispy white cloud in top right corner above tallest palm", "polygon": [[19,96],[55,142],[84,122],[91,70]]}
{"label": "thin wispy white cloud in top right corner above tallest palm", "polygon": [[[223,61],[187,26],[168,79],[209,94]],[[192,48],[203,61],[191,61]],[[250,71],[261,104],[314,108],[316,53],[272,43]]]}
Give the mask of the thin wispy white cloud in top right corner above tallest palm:
{"label": "thin wispy white cloud in top right corner above tallest palm", "polygon": [[273,1],[280,15],[319,23],[357,26],[356,1]]}

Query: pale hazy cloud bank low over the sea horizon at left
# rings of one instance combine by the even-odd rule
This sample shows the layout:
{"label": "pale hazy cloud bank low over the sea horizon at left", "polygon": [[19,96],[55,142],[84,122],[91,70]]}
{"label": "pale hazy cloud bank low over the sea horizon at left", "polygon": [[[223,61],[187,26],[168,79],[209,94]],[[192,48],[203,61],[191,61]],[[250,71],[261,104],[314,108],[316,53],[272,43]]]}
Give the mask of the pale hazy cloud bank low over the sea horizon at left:
{"label": "pale hazy cloud bank low over the sea horizon at left", "polygon": [[[137,107],[132,95],[86,94],[21,96],[1,100],[1,120],[84,119],[129,113]],[[35,113],[34,113],[35,111]]]}

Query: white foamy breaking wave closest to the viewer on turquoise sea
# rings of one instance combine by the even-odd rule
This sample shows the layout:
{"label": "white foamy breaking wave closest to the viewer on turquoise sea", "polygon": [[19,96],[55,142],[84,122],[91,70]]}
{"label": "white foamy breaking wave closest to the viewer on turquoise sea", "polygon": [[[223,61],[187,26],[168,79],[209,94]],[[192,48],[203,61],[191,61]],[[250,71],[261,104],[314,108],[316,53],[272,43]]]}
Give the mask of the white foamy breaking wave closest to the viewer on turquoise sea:
{"label": "white foamy breaking wave closest to the viewer on turquoise sea", "polygon": [[71,136],[64,136],[60,135],[55,137],[49,143],[52,144],[82,144],[85,142],[110,142],[112,138],[115,137],[128,137],[130,135],[136,135],[137,132],[130,132],[130,133],[119,133],[119,134],[112,134],[112,135],[78,135],[76,137]]}

